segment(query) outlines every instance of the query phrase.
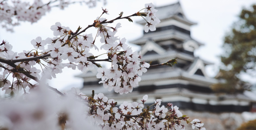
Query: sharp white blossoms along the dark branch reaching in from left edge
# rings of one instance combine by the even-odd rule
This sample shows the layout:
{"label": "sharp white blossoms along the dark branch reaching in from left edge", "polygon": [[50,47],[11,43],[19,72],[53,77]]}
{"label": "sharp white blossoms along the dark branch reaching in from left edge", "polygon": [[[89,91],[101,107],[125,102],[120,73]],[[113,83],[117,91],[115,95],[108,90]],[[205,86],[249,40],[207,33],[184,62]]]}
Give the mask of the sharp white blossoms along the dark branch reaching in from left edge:
{"label": "sharp white blossoms along the dark branch reaching in from left edge", "polygon": [[[108,12],[107,9],[102,8],[102,10],[103,14]],[[148,15],[147,17],[150,16]],[[104,21],[105,23],[103,23]],[[142,56],[140,53],[132,52],[131,47],[125,43],[125,38],[121,39],[115,36],[117,30],[121,27],[121,23],[117,23],[115,27],[110,27],[107,24],[106,18],[97,17],[94,20],[92,26],[97,29],[97,35],[94,38],[92,34],[75,35],[81,27],[76,32],[73,32],[69,27],[62,26],[61,23],[57,22],[50,28],[55,37],[47,39],[37,37],[31,40],[31,44],[35,49],[14,53],[11,50],[12,46],[7,41],[2,41],[0,57],[6,60],[25,59],[15,62],[15,66],[23,68],[24,71],[37,79],[40,79],[40,75],[44,78],[52,79],[56,78],[56,74],[62,73],[64,67],[72,68],[73,70],[77,68],[82,72],[94,69],[95,66],[101,67],[95,62],[98,56],[90,53],[91,49],[98,50],[95,39],[100,37],[100,42],[102,43],[100,49],[106,50],[107,52],[104,54],[108,56],[107,59],[102,61],[109,61],[112,64],[109,69],[98,69],[97,78],[102,79],[99,83],[103,83],[103,86],[109,91],[114,89],[115,92],[120,94],[129,93],[134,87],[138,86],[138,82],[141,81],[139,76],[143,72],[145,73],[147,71],[146,68],[150,65],[141,61]],[[26,60],[26,58],[40,56],[44,57],[36,60]],[[65,61],[68,62],[64,63]],[[40,65],[41,69],[37,69],[34,67],[35,65]],[[17,69],[17,67],[8,64],[3,64],[3,66],[7,69],[4,70],[3,75],[0,75],[0,81],[4,84],[2,90],[5,90],[5,93],[10,93],[11,91],[16,93],[17,90],[21,91],[22,88],[25,92],[27,86],[32,88],[33,85],[29,83],[31,77],[24,73],[11,71],[14,68]],[[13,83],[7,77],[4,77],[9,73],[13,73],[13,77],[16,78]]]}

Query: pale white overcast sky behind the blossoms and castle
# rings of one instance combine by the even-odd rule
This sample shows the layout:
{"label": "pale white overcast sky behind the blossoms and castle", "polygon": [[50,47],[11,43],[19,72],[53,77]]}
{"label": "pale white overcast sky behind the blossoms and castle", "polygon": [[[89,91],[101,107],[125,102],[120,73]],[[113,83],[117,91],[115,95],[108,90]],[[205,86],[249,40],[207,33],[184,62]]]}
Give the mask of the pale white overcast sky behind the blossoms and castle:
{"label": "pale white overcast sky behind the blossoms and castle", "polygon": [[[25,0],[24,0],[25,1]],[[26,0],[30,2],[29,0]],[[45,0],[45,3],[47,0]],[[128,16],[144,8],[145,3],[153,3],[155,6],[164,6],[176,3],[177,0],[107,0],[107,4],[99,2],[94,8],[88,8],[86,5],[73,4],[64,10],[53,8],[49,13],[43,16],[37,23],[21,22],[20,26],[14,28],[14,33],[6,32],[0,27],[0,40],[7,40],[13,45],[14,52],[22,52],[23,50],[31,50],[31,40],[41,36],[42,39],[53,37],[53,31],[50,26],[56,22],[60,22],[62,26],[70,27],[75,31],[78,26],[86,28],[92,24],[101,13],[101,7],[107,8],[110,15],[103,15],[103,18],[114,19],[118,17],[120,12],[124,12],[123,16]],[[195,51],[195,56],[199,56],[203,60],[210,61],[214,65],[206,67],[206,72],[210,77],[214,77],[219,69],[220,58],[223,52],[222,44],[225,34],[232,27],[232,24],[238,20],[238,15],[242,8],[248,8],[255,0],[180,0],[181,7],[185,16],[196,25],[191,27],[191,37],[205,44]],[[160,14],[159,14],[160,15]],[[122,28],[118,30],[117,35],[120,38],[126,38],[127,42],[140,38],[143,35],[143,26],[136,24],[136,21],[142,18],[132,18],[134,23],[126,19],[116,21],[111,24],[121,23]],[[96,29],[90,28],[85,33],[96,35]],[[132,45],[134,50],[140,47]],[[98,52],[96,52],[98,53]],[[63,69],[63,73],[57,74],[57,78],[48,81],[49,85],[63,89],[67,86],[81,87],[83,80],[76,78],[75,75],[81,74],[79,70],[70,68]],[[244,77],[252,83],[253,79]]]}

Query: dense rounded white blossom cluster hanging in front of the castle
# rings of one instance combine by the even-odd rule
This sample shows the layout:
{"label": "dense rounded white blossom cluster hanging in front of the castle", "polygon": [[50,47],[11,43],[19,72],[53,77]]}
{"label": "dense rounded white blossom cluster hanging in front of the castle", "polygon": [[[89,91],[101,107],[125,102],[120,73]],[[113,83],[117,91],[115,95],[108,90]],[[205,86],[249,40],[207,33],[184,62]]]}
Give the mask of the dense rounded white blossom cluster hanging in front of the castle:
{"label": "dense rounded white blossom cluster hanging in front of the castle", "polygon": [[[126,39],[119,39],[113,44],[113,47],[108,49],[104,44],[104,48],[108,49],[109,57],[112,60],[112,66],[107,69],[98,69],[97,78],[101,78],[104,88],[109,91],[114,89],[115,92],[123,94],[132,92],[133,88],[138,86],[142,73],[147,72],[150,65],[144,61],[140,61],[142,56],[137,52],[133,52],[131,47],[125,44]],[[124,49],[124,51],[120,51]],[[116,52],[116,53],[115,53]],[[117,53],[118,52],[118,53]],[[119,63],[119,64],[117,64]],[[141,64],[141,65],[140,65]]]}

